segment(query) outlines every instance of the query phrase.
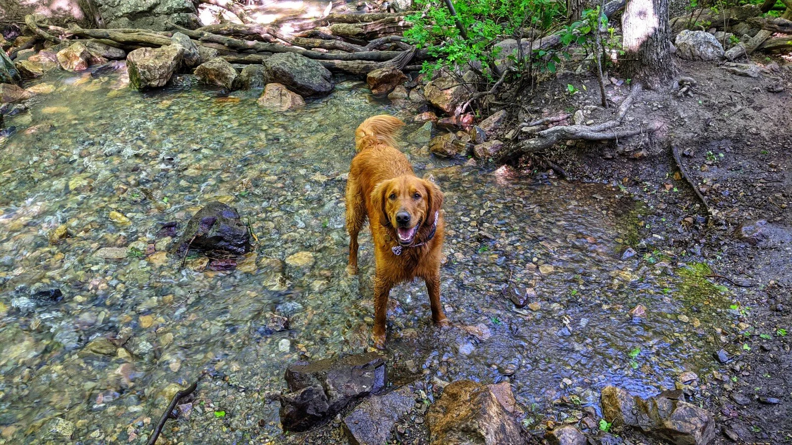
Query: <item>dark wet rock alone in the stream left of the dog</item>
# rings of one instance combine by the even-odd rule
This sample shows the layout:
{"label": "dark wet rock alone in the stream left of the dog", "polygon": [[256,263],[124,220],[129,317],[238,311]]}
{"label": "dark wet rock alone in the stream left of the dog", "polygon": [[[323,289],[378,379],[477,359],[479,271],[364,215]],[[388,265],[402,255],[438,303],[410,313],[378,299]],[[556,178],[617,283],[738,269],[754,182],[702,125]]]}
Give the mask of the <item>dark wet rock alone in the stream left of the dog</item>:
{"label": "dark wet rock alone in the stream left of the dog", "polygon": [[242,255],[250,250],[250,233],[236,210],[214,201],[200,209],[187,223],[177,242],[177,256],[188,249],[224,251]]}

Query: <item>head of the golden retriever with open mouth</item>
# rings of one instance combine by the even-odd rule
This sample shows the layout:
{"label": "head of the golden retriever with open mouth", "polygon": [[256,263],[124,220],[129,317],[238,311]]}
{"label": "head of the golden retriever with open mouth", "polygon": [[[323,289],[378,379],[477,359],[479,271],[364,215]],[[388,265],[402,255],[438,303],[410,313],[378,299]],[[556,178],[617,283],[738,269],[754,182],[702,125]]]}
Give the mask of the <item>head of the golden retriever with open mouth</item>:
{"label": "head of the golden retriever with open mouth", "polygon": [[443,192],[430,181],[404,175],[377,184],[371,203],[379,212],[379,223],[393,228],[399,244],[410,245],[417,234],[432,230]]}

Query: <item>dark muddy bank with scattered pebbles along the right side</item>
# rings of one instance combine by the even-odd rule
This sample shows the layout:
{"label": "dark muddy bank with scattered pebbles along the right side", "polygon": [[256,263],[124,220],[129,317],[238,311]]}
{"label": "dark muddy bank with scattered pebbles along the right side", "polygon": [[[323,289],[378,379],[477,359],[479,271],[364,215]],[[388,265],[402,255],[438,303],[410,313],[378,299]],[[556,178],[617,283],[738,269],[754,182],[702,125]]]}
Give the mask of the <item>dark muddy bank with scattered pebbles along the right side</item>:
{"label": "dark muddy bank with scattered pebbles along the right side", "polygon": [[[713,356],[718,371],[700,375],[688,397],[716,416],[716,443],[792,440],[792,335],[783,335],[792,332],[792,70],[764,58],[755,62],[765,67],[759,78],[714,63],[678,62],[680,75],[698,82],[694,96],[647,91],[628,114],[630,126],[664,123],[657,137],[578,143],[550,154],[569,179],[626,188],[649,204],[635,247],[646,261],[706,261],[712,283],[733,291],[733,324],[721,327],[729,361]],[[569,94],[567,84],[580,91]],[[626,94],[626,85],[607,89]],[[543,84],[522,108],[543,108],[532,115],[539,118],[599,102],[596,78],[569,74]],[[612,109],[597,113],[587,119],[607,120]],[[675,174],[672,145],[711,215]],[[528,162],[534,171],[546,169]],[[761,234],[739,235],[741,223],[757,220],[767,222]]]}

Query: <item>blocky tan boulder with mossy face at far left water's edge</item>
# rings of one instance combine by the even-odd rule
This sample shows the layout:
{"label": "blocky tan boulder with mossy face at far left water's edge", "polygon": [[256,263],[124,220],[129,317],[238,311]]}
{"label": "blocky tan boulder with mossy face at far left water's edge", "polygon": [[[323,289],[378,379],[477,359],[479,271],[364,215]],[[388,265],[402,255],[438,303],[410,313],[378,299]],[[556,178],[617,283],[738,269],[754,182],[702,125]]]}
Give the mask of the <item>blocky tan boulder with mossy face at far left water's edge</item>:
{"label": "blocky tan boulder with mossy face at far left water's edge", "polygon": [[179,67],[184,51],[173,45],[131,51],[127,57],[129,85],[135,89],[166,86]]}

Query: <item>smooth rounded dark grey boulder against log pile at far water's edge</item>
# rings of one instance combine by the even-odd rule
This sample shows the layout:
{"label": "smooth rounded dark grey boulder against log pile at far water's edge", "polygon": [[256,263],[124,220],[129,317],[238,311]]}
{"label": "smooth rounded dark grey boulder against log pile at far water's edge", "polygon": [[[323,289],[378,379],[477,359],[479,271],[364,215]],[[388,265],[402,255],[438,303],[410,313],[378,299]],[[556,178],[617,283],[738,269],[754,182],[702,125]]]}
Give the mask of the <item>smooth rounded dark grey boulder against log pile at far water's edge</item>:
{"label": "smooth rounded dark grey boulder against log pile at far water's edge", "polygon": [[277,82],[303,97],[333,91],[333,76],[322,63],[293,52],[273,54],[264,61],[268,82]]}

